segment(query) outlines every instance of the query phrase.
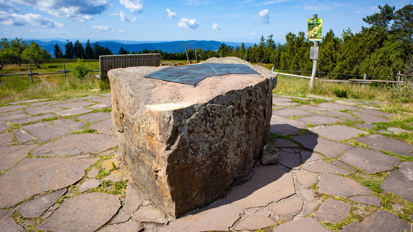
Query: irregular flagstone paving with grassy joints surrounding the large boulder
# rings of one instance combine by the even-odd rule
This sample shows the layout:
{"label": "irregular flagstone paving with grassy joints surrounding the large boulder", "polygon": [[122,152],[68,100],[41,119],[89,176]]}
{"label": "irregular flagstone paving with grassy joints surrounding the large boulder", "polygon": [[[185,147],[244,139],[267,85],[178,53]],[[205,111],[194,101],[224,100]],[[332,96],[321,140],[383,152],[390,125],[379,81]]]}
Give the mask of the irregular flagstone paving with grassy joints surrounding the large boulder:
{"label": "irregular flagstone paving with grassy joints surrounding the large boulder", "polygon": [[120,159],[110,93],[0,107],[0,231],[411,231],[413,145],[385,135],[413,132],[379,128],[385,102],[322,99],[273,95],[278,163],[177,220]]}

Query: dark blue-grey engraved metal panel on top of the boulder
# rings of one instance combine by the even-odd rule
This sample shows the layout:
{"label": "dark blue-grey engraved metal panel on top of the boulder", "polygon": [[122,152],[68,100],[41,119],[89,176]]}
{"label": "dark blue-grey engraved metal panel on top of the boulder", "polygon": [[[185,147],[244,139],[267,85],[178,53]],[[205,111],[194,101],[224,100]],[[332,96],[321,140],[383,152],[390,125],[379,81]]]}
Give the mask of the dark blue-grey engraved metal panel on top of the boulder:
{"label": "dark blue-grey engraved metal panel on top of the boulder", "polygon": [[166,80],[181,84],[196,85],[199,81],[210,76],[221,76],[225,74],[260,74],[245,64],[193,64],[176,67],[167,67],[154,73],[148,74],[146,78]]}

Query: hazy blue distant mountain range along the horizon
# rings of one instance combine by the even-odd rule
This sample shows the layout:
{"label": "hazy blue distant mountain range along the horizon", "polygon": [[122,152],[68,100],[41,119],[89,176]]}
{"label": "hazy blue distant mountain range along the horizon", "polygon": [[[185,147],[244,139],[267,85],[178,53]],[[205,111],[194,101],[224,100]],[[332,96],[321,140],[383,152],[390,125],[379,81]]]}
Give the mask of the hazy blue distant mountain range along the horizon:
{"label": "hazy blue distant mountain range along the horizon", "polygon": [[[30,43],[31,40],[25,40],[26,43]],[[33,40],[34,42],[38,43],[42,46],[43,49],[46,49],[47,52],[53,54],[55,51],[55,44],[57,43],[64,53],[64,45],[65,42],[59,40],[51,40],[49,42],[44,42],[40,40]],[[69,40],[70,41],[70,40]],[[75,41],[72,41],[73,43]],[[91,45],[93,43],[98,42],[102,47],[108,47],[113,54],[116,54],[119,51],[119,48],[123,46],[123,49],[128,51],[135,51],[139,52],[141,50],[155,50],[160,49],[163,52],[185,52],[185,43],[188,49],[199,48],[202,47],[203,50],[218,50],[222,43],[232,47],[241,47],[241,43],[234,43],[234,42],[219,42],[219,41],[206,41],[206,40],[188,40],[188,41],[133,41],[133,40],[105,40],[105,41],[93,41],[90,42]],[[85,47],[86,43],[82,42],[83,47]],[[254,46],[253,43],[244,43],[245,47]]]}

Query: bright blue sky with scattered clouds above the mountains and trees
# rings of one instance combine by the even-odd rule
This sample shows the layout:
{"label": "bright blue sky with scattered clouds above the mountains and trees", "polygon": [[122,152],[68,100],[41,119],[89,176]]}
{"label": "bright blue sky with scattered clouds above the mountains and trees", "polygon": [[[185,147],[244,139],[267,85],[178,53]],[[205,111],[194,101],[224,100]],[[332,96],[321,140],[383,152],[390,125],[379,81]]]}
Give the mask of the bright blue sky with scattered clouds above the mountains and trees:
{"label": "bright blue sky with scattered clouds above the mountains and trees", "polygon": [[[408,0],[388,1],[396,9]],[[386,1],[363,0],[0,0],[0,37],[69,40],[217,40],[285,42],[313,14],[323,35],[367,26]]]}

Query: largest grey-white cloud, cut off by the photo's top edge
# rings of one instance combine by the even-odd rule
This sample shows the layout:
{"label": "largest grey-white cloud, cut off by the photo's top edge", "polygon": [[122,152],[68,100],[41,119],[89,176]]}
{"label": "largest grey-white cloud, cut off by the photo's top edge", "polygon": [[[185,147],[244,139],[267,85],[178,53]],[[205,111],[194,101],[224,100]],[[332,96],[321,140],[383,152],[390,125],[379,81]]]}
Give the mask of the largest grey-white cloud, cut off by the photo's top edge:
{"label": "largest grey-white cloud, cut off by the photo's top edge", "polygon": [[78,22],[90,20],[95,14],[101,14],[112,8],[110,0],[11,0],[21,5],[47,12],[55,17],[71,18]]}

